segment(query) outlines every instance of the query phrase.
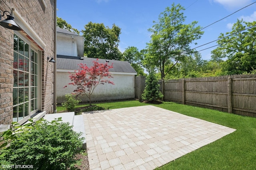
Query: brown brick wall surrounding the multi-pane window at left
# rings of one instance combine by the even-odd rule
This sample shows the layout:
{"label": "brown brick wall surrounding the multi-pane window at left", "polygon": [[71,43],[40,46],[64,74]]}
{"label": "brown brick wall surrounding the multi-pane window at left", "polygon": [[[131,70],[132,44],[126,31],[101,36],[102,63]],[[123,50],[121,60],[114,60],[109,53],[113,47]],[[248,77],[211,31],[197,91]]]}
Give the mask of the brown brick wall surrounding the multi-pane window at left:
{"label": "brown brick wall surrounding the multi-pane window at left", "polygon": [[[43,4],[46,3],[46,7]],[[42,39],[46,47],[42,51],[42,107],[40,111],[54,112],[54,64],[47,62],[47,57],[54,53],[54,20],[56,4],[54,0],[0,0],[3,11],[17,11]],[[6,19],[6,15],[2,20]],[[14,19],[15,21],[16,19]],[[20,32],[23,34],[22,32]],[[26,35],[24,35],[26,36]],[[13,48],[14,31],[0,26],[0,124],[12,123],[13,115]]]}

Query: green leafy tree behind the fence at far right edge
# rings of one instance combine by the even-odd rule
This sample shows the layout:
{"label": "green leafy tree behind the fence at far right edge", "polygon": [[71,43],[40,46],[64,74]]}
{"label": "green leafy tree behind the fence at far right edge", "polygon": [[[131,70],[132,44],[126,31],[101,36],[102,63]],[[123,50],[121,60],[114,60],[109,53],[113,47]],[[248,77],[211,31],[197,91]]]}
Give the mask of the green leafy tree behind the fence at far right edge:
{"label": "green leafy tree behind the fence at far right edge", "polygon": [[[237,20],[231,32],[221,33],[212,51],[212,60],[220,61],[223,74],[250,73],[256,68],[256,21]],[[249,29],[247,29],[249,28]],[[222,61],[226,58],[226,61]]]}

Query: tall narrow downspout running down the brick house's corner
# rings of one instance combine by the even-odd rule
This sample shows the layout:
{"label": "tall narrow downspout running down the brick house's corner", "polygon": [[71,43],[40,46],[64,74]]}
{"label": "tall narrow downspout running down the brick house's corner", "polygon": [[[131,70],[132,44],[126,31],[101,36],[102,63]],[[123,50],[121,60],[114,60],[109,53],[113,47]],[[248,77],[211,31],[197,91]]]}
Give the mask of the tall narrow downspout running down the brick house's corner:
{"label": "tall narrow downspout running down the brick house's corner", "polygon": [[[56,43],[57,43],[57,0],[54,0],[54,59],[57,61],[57,50],[56,50]],[[54,113],[57,113],[57,86],[56,86],[56,75],[57,75],[57,63],[54,63]]]}

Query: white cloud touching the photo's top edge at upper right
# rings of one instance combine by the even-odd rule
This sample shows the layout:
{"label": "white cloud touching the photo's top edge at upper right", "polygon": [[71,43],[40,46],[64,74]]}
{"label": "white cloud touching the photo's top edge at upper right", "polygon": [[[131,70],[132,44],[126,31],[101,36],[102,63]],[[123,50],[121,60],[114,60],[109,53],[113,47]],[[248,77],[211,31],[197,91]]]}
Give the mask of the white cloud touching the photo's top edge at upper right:
{"label": "white cloud touching the photo's top edge at upper right", "polygon": [[213,0],[216,3],[222,4],[225,8],[242,8],[252,3],[252,0]]}

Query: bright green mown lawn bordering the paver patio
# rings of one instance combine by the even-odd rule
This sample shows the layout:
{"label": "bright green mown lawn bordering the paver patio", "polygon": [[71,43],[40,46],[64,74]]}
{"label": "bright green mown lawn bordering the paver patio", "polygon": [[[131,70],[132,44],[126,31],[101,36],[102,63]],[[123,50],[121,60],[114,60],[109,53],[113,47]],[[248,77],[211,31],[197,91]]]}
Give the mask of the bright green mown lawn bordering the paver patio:
{"label": "bright green mown lawn bordering the paver patio", "polygon": [[[98,106],[116,109],[145,106],[136,100],[99,103]],[[165,102],[154,105],[184,115],[196,117],[236,129],[234,133],[188,153],[159,170],[255,170],[256,169],[256,118],[224,113],[200,107]],[[64,108],[57,107],[57,110]]]}

